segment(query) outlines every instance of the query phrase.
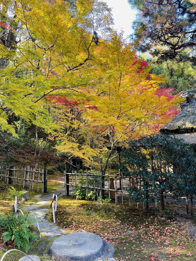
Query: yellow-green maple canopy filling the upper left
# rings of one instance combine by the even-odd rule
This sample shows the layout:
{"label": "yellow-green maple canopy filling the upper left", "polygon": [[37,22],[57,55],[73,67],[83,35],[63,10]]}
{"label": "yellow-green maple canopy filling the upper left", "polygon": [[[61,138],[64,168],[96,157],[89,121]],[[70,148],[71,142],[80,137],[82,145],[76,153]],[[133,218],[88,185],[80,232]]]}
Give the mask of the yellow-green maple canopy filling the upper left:
{"label": "yellow-green maple canopy filling the upper left", "polygon": [[[98,1],[2,1],[0,129],[15,134],[13,117],[51,132],[46,95],[77,95],[95,84],[97,34],[112,18]],[[56,128],[56,127],[55,127]]]}

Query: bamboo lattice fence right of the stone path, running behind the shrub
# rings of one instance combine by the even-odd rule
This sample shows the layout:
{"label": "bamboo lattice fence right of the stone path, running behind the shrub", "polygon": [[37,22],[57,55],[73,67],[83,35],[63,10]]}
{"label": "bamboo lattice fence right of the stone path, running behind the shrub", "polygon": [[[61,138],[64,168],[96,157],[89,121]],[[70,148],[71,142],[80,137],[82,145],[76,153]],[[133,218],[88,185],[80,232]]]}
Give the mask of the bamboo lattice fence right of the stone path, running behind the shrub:
{"label": "bamboo lattice fence right of the stone path, running behind the shrub", "polygon": [[[81,182],[82,180],[82,182]],[[104,180],[104,186],[103,185],[103,180]],[[124,184],[126,183],[126,186],[123,186],[123,181]],[[64,171],[64,185],[65,185],[65,195],[70,196],[69,190],[71,188],[71,194],[73,196],[74,193],[74,188],[76,186],[80,186],[82,188],[85,188],[86,190],[86,196],[88,194],[89,190],[96,191],[96,194],[101,196],[102,191],[108,191],[108,197],[111,199],[115,199],[115,204],[118,204],[118,202],[123,202],[125,199],[129,200],[129,205],[131,204],[130,197],[129,197],[129,188],[138,188],[141,189],[143,181],[138,178],[133,178],[130,176],[124,177],[124,176],[119,176],[119,174],[105,174],[103,175],[102,173],[90,173],[90,172],[85,172],[85,173],[77,173],[77,171],[73,171],[72,173],[66,173]],[[120,186],[121,183],[121,186]],[[120,188],[119,188],[120,187]],[[157,206],[157,199],[155,197],[155,208],[158,208]],[[173,195],[166,191],[164,192],[164,204],[165,206],[167,205],[166,201],[168,199],[173,199],[174,204],[175,204],[175,212],[177,212],[177,200]],[[178,202],[182,205],[184,205],[183,201],[185,197],[180,197],[178,199]],[[188,197],[186,197],[186,205],[188,208]],[[196,197],[195,197],[196,199]],[[160,201],[158,201],[160,202]],[[139,202],[137,202],[138,206]],[[146,203],[143,203],[144,209],[147,208]],[[192,209],[193,206],[191,206]]]}

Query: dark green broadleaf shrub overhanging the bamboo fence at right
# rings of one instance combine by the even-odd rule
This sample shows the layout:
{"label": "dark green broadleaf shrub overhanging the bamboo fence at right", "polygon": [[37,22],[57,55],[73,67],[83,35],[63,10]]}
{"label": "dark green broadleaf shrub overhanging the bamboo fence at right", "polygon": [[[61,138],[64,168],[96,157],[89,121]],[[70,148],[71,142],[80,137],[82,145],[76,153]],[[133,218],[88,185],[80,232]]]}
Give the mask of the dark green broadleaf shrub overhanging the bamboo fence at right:
{"label": "dark green broadleaf shrub overhanging the bamboo fence at right", "polygon": [[158,199],[164,210],[165,190],[178,198],[191,196],[196,189],[196,154],[183,140],[158,134],[141,137],[129,143],[123,156],[122,172],[141,179],[139,188],[129,190],[136,202]]}

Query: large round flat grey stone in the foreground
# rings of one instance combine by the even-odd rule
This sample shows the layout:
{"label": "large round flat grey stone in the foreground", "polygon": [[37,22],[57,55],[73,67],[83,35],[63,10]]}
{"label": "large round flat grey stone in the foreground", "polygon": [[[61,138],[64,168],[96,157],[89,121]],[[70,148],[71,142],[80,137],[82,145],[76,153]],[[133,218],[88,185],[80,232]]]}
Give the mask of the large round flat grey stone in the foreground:
{"label": "large round flat grey stone in the foreground", "polygon": [[91,261],[112,257],[114,248],[101,237],[86,232],[71,233],[53,241],[48,254],[54,261]]}

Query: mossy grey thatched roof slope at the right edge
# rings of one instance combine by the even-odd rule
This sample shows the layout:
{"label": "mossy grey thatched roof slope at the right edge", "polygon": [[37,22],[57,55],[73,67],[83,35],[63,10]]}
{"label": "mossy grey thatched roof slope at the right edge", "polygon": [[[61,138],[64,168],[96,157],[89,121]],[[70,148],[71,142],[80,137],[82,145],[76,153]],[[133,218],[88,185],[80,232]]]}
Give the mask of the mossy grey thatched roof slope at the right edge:
{"label": "mossy grey thatched roof slope at the right edge", "polygon": [[164,125],[160,132],[167,134],[196,132],[196,99],[185,101],[181,108],[182,111]]}

